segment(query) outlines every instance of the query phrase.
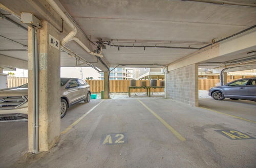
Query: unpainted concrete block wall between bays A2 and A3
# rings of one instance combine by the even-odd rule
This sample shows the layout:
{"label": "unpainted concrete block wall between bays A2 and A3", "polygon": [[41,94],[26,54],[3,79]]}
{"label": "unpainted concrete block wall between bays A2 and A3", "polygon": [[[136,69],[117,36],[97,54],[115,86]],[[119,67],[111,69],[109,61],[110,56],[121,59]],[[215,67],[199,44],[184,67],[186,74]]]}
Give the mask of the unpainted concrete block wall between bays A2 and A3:
{"label": "unpainted concrete block wall between bays A2 and A3", "polygon": [[198,64],[166,74],[166,98],[198,106]]}

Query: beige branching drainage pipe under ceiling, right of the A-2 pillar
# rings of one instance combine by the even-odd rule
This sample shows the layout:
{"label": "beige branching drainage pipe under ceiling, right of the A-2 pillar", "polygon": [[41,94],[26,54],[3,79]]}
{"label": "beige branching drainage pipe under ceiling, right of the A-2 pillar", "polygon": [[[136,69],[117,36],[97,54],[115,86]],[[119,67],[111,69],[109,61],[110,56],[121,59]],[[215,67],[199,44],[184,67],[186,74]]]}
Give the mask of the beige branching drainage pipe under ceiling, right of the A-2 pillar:
{"label": "beige branching drainage pipe under ceiling, right of the A-2 pillar", "polygon": [[51,7],[59,14],[59,16],[71,27],[72,31],[61,40],[60,44],[61,46],[65,46],[69,41],[75,40],[77,44],[79,44],[84,50],[86,50],[91,55],[94,55],[96,57],[102,58],[102,54],[95,53],[91,51],[86,45],[84,45],[78,38],[75,38],[75,35],[77,33],[76,26],[73,24],[73,22],[68,18],[68,16],[58,7],[58,5],[54,2],[54,0],[46,0]]}

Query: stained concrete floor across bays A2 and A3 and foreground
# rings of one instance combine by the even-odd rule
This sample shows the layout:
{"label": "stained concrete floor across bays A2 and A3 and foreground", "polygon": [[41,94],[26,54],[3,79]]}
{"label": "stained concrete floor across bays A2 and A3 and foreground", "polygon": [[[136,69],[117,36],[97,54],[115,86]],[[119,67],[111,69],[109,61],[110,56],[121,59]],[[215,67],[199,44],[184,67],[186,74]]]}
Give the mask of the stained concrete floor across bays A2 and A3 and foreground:
{"label": "stained concrete floor across bays A2 and A3 and foreground", "polygon": [[[7,160],[3,160],[0,166],[254,167],[256,165],[256,139],[248,138],[256,137],[256,123],[169,99],[139,98],[139,100],[127,98],[79,103],[61,120],[62,130],[65,131],[71,123],[101,102],[91,110],[90,114],[84,115],[79,123],[63,133],[59,144],[51,151],[39,155],[23,155],[16,162],[11,162],[13,164],[5,164]],[[200,99],[200,104],[204,103],[203,101],[205,100]],[[208,105],[208,108],[215,106],[216,101],[211,99],[206,101],[208,102],[204,104]],[[251,106],[256,107],[256,104],[240,104],[237,101],[227,100],[223,103],[229,103],[227,105],[229,110],[221,112],[232,111],[233,115],[241,118],[246,117],[241,115],[242,112],[244,113]],[[236,111],[238,106],[245,110]],[[255,113],[256,111],[254,113],[251,111],[248,119],[254,119]],[[3,124],[1,123],[1,130]],[[5,126],[6,128],[8,125]],[[238,138],[232,140],[216,130],[239,131],[241,136],[236,134]],[[124,137],[122,138],[121,135]],[[1,144],[2,139],[1,131]],[[7,153],[8,150],[10,149],[5,147]],[[2,153],[1,150],[3,157]]]}

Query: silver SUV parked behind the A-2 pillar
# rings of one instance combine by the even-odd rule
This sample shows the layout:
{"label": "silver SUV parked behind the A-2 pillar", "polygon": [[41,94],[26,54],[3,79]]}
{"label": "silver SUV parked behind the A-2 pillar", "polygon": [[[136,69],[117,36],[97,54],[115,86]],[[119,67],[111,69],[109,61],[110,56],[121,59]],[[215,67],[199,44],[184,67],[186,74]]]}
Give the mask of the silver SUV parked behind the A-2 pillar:
{"label": "silver SUV parked behind the A-2 pillar", "polygon": [[[70,106],[91,100],[90,86],[77,78],[60,78],[60,94],[61,118]],[[0,90],[0,122],[24,119],[28,119],[28,83]]]}

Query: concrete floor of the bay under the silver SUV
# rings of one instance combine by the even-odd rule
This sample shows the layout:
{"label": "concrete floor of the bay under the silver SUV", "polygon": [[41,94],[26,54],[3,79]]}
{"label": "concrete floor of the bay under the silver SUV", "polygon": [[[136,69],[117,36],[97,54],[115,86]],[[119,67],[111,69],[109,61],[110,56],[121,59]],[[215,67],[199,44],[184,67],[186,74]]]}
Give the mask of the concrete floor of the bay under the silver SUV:
{"label": "concrete floor of the bay under the silver SUV", "polygon": [[[61,119],[60,130],[65,130],[99,101],[81,102],[70,107],[66,116]],[[0,122],[0,130],[0,167],[9,167],[27,153],[28,122]]]}

